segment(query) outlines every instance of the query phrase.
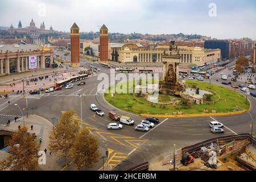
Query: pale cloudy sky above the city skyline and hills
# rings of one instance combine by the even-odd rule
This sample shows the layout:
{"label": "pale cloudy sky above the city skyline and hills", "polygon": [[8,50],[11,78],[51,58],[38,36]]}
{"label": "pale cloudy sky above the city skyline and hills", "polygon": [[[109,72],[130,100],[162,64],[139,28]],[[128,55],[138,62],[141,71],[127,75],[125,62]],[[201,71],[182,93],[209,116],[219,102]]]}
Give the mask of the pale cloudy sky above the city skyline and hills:
{"label": "pale cloudy sky above the city skyline and hills", "polygon": [[32,18],[37,27],[44,21],[59,31],[69,31],[74,22],[81,31],[97,31],[105,23],[110,32],[125,34],[256,40],[255,0],[1,0],[0,26],[18,27],[19,20],[28,26]]}

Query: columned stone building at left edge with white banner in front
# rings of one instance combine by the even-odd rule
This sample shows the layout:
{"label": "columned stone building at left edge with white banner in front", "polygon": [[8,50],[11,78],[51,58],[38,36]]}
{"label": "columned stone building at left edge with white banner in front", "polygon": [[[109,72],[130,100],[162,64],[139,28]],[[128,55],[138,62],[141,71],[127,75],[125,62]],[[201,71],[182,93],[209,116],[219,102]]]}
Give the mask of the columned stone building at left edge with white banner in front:
{"label": "columned stone building at left edge with white banner in front", "polygon": [[37,56],[38,68],[51,68],[53,49],[48,46],[34,44],[0,45],[0,75],[29,71],[29,57]]}

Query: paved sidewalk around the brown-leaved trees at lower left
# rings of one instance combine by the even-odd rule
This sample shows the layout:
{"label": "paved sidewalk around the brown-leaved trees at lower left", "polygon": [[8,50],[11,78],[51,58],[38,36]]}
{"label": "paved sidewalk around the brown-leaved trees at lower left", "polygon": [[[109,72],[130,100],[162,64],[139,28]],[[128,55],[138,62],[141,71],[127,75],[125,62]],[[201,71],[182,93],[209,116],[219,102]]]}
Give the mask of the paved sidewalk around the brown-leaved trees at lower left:
{"label": "paved sidewalk around the brown-leaved trees at lower left", "polygon": [[[49,155],[49,149],[48,149],[48,140],[49,140],[49,134],[51,133],[53,126],[52,123],[49,122],[47,119],[44,119],[40,117],[39,115],[29,115],[28,118],[24,118],[25,125],[28,127],[28,133],[35,133],[36,135],[36,141],[38,141],[39,137],[42,137],[43,141],[40,144],[40,151],[44,151],[44,149],[47,149],[46,154],[46,165],[39,165],[39,168],[41,168],[44,171],[60,171],[64,163],[58,163],[59,158],[57,158],[54,154]],[[17,122],[11,122],[10,126],[2,127],[2,129],[7,129],[10,131],[18,130],[18,126],[23,125],[23,119],[18,119]],[[31,125],[33,125],[33,130],[31,130]],[[5,155],[4,155],[5,154]],[[1,152],[0,160],[6,155],[8,155],[6,152]]]}

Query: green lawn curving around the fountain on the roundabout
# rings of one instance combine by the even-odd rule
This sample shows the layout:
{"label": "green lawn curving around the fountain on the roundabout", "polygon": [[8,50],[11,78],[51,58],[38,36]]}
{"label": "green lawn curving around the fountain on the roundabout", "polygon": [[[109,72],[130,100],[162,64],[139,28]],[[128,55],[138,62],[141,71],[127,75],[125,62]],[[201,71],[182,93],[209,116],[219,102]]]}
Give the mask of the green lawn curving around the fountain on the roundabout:
{"label": "green lawn curving around the fountain on the roundabout", "polygon": [[[242,94],[235,92],[232,89],[224,88],[218,85],[209,85],[208,83],[198,81],[187,81],[189,87],[193,85],[199,86],[202,90],[208,90],[214,94],[212,97],[215,101],[206,102],[203,105],[192,105],[188,108],[187,106],[177,105],[166,105],[165,107],[160,105],[151,104],[147,102],[144,97],[135,97],[133,94],[116,94],[113,98],[111,94],[105,93],[104,97],[110,104],[118,107],[119,109],[129,111],[135,114],[173,114],[174,111],[181,110],[183,114],[199,114],[204,113],[204,109],[216,110],[218,113],[234,111],[233,108],[238,106],[239,109],[249,109],[250,104]],[[164,99],[168,100],[173,97],[161,96],[160,101],[164,102]]]}

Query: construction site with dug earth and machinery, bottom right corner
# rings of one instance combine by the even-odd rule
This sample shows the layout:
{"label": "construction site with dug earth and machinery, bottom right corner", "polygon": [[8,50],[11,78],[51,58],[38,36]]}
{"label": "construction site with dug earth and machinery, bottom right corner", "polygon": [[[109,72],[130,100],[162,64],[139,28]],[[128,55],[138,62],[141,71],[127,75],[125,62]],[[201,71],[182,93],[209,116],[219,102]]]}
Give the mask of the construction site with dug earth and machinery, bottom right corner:
{"label": "construction site with dug earth and machinery, bottom right corner", "polygon": [[[210,139],[166,156],[162,167],[177,171],[256,171],[256,139],[249,134]],[[174,162],[175,161],[175,162]]]}

